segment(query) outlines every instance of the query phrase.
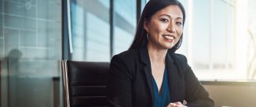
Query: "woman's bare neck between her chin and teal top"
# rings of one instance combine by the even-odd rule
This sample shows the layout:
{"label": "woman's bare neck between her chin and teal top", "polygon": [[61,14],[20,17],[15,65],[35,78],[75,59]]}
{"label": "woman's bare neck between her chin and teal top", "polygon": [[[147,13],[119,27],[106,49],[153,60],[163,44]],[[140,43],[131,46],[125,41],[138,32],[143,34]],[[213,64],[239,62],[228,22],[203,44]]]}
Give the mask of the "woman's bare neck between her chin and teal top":
{"label": "woman's bare neck between her chin and teal top", "polygon": [[168,49],[159,49],[153,47],[152,45],[148,45],[148,55],[150,62],[159,64],[165,63],[167,51]]}

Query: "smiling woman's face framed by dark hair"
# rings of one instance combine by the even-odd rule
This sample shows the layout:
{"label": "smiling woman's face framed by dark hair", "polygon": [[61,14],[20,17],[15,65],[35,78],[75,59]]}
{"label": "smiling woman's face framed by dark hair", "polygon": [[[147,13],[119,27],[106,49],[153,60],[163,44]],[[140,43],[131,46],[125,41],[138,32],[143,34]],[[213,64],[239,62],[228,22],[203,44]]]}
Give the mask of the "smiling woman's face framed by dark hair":
{"label": "smiling woman's face framed by dark hair", "polygon": [[178,5],[168,5],[155,12],[144,22],[148,32],[148,45],[159,49],[169,49],[177,44],[183,32],[183,16]]}

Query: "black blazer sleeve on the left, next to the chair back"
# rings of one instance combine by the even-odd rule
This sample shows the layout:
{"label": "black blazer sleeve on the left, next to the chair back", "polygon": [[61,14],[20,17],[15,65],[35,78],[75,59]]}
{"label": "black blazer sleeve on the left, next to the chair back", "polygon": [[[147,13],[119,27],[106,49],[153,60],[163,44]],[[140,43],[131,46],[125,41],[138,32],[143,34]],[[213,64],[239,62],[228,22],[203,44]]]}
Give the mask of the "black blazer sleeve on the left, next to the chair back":
{"label": "black blazer sleeve on the left, next to the chair back", "polygon": [[115,55],[110,64],[107,84],[109,107],[132,107],[131,74],[123,60]]}

